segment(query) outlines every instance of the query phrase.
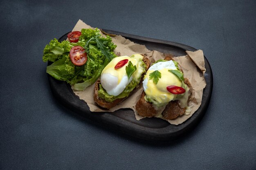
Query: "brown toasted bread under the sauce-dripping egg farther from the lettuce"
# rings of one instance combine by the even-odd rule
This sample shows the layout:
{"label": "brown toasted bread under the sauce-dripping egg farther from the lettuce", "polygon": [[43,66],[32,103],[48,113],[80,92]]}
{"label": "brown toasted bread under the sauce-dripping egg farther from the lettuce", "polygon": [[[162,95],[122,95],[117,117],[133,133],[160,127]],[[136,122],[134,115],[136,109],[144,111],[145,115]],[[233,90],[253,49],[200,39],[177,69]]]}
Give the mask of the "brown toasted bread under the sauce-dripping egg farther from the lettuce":
{"label": "brown toasted bread under the sauce-dripping egg farther from the lettuce", "polygon": [[[173,60],[172,57],[167,56],[164,60]],[[180,66],[179,66],[180,67]],[[180,70],[182,71],[181,67]],[[183,71],[182,71],[183,72]],[[191,89],[191,84],[189,80],[184,78],[184,83]],[[143,91],[139,101],[137,102],[135,108],[139,115],[143,117],[155,117],[158,113],[154,106],[150,102],[146,102],[144,97],[146,93]],[[189,101],[188,101],[189,102]],[[175,119],[186,112],[185,108],[180,108],[179,101],[171,101],[167,104],[166,108],[162,112],[164,119]]]}

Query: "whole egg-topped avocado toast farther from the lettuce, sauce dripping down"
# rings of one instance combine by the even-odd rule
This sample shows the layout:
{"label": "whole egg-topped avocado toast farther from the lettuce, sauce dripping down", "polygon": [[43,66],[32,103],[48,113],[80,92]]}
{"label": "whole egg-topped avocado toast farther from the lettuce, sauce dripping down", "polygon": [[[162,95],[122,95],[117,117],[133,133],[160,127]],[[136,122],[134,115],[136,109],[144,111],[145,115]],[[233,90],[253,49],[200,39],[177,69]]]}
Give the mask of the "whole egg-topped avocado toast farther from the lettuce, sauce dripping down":
{"label": "whole egg-topped avocado toast farther from the lettuce, sauce dripping down", "polygon": [[148,68],[143,88],[136,104],[139,115],[170,120],[189,112],[191,85],[171,57],[158,60]]}

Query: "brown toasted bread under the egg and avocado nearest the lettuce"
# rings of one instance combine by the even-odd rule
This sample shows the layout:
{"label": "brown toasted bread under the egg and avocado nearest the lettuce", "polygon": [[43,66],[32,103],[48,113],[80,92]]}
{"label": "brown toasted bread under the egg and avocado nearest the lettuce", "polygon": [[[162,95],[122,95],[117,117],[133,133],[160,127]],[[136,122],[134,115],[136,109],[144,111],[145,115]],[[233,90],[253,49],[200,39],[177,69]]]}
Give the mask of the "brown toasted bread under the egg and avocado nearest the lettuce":
{"label": "brown toasted bread under the egg and avocado nearest the lettuce", "polygon": [[[150,66],[150,60],[146,56],[144,56],[142,60],[146,64],[146,71],[147,71],[149,66]],[[143,80],[143,75],[141,76],[141,80]],[[98,95],[99,84],[100,83],[101,83],[100,79],[98,79],[97,82],[95,83],[95,87],[94,87],[94,102],[96,102],[102,108],[110,109],[110,108],[116,106],[121,101],[123,101],[124,99],[127,98],[127,97],[125,97],[123,99],[115,99],[113,102],[107,102],[105,99],[100,98],[99,95]]]}

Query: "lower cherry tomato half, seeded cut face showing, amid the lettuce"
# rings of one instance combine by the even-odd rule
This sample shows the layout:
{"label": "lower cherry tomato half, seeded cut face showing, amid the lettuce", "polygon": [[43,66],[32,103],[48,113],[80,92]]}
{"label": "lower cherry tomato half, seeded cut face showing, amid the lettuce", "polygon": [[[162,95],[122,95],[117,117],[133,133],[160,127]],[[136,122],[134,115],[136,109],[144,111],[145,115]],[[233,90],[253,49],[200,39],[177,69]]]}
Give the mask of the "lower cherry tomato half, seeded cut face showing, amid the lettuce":
{"label": "lower cherry tomato half, seeded cut face showing, amid the lettuce", "polygon": [[87,53],[81,46],[73,46],[70,50],[70,60],[76,66],[82,66],[87,62]]}

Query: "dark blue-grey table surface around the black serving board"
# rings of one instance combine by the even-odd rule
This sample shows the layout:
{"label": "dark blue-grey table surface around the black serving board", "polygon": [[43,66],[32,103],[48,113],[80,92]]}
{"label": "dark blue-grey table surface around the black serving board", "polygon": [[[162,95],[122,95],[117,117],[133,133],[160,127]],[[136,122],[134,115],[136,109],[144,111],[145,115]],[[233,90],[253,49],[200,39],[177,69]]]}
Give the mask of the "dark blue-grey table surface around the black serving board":
{"label": "dark blue-grey table surface around the black serving board", "polygon": [[[256,1],[0,2],[0,169],[256,169]],[[202,121],[165,144],[76,115],[52,95],[42,61],[81,19],[202,49],[213,93]]]}

